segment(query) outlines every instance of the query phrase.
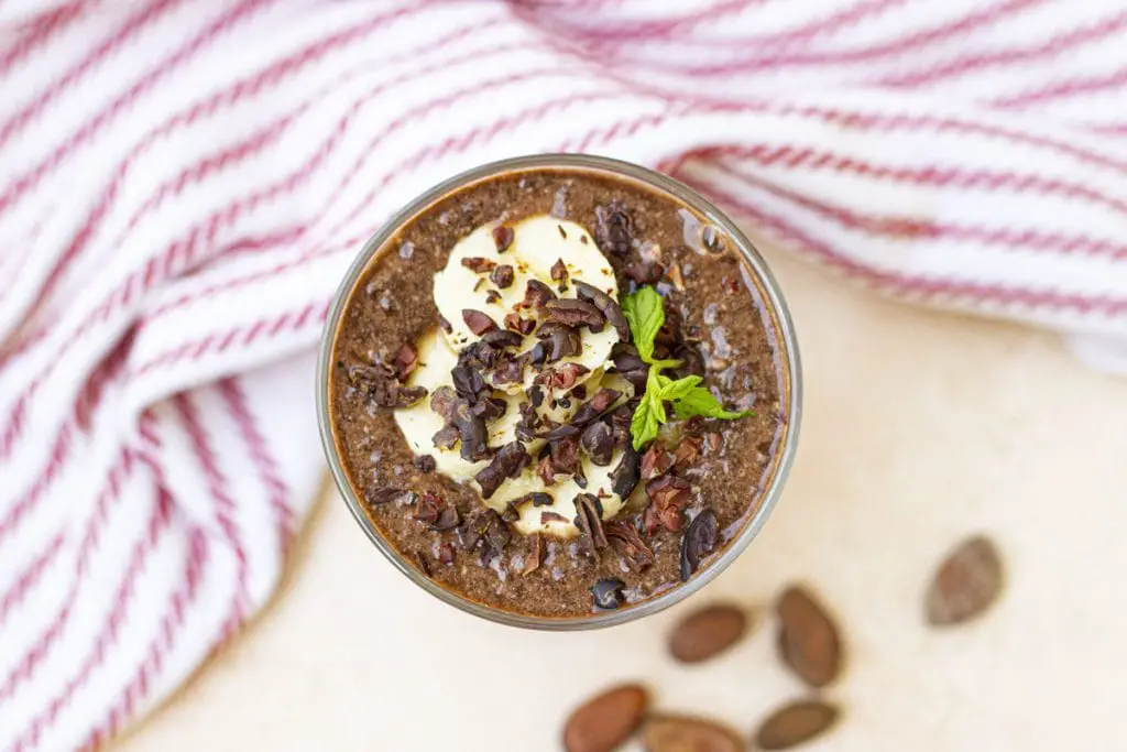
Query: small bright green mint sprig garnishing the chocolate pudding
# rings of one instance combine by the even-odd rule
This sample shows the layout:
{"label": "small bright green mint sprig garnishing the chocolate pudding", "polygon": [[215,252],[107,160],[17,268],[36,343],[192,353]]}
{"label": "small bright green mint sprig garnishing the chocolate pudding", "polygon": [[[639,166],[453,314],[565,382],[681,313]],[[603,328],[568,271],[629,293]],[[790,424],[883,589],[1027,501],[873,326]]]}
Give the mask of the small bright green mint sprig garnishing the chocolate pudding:
{"label": "small bright green mint sprig garnishing the chocolate pudding", "polygon": [[687,375],[684,379],[671,379],[662,374],[667,368],[681,365],[681,361],[654,360],[654,340],[665,324],[665,307],[662,295],[654,287],[639,287],[622,299],[622,315],[630,325],[638,355],[649,364],[649,375],[646,378],[646,391],[630,419],[630,435],[635,451],[657,437],[662,424],[668,419],[665,402],[673,406],[673,412],[681,419],[701,415],[709,418],[735,421],[752,410],[731,412],[725,409],[712,392],[700,386],[702,379]]}

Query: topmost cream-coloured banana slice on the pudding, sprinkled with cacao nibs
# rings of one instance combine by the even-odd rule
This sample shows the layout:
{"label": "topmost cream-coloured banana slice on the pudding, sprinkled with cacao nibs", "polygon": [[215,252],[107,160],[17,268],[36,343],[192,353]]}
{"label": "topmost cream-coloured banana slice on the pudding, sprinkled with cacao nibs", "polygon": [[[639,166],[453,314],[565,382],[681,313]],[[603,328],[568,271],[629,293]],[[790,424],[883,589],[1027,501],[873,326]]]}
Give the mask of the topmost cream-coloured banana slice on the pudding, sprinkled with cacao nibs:
{"label": "topmost cream-coloured banana slice on the pudding, sprinkled with cacao nibs", "polygon": [[[462,311],[476,310],[486,313],[504,328],[505,317],[516,312],[523,318],[538,318],[535,310],[518,308],[524,300],[530,280],[538,280],[553,292],[559,282],[552,280],[552,266],[564,262],[568,273],[568,285],[561,298],[575,298],[574,281],[579,280],[606,292],[618,300],[619,289],[606,257],[595,245],[591,233],[582,225],[548,215],[529,218],[513,225],[512,242],[504,251],[497,250],[494,230],[499,225],[490,223],[479,227],[462,238],[451,250],[445,268],[434,275],[434,300],[438,312],[450,322],[447,339],[456,352],[461,352],[480,337],[465,324]],[[483,259],[483,260],[478,260]],[[463,264],[465,262],[465,264]],[[469,266],[467,265],[469,264]],[[499,287],[485,269],[490,265],[508,265],[513,269],[513,281]],[[578,382],[610,360],[611,347],[619,340],[614,327],[606,325],[597,334],[586,327],[580,329],[580,353],[561,359],[560,363],[578,363],[587,369]],[[535,344],[533,335],[525,336],[521,352]],[[525,382],[507,384],[505,389],[520,392],[531,386],[535,374],[526,370]]]}

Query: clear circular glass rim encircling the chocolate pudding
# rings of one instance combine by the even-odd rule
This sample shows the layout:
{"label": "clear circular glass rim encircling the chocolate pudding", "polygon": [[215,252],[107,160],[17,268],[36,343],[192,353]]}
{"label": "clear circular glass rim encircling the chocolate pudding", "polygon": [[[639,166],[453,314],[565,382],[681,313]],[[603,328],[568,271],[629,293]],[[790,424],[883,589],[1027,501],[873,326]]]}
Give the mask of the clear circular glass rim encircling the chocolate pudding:
{"label": "clear circular glass rim encircling the chocolate pudding", "polygon": [[[781,446],[778,450],[778,460],[771,469],[771,478],[762,492],[762,501],[752,516],[744,523],[738,536],[729,541],[728,546],[713,559],[706,568],[695,574],[689,582],[678,583],[667,591],[655,595],[637,605],[624,609],[598,611],[582,617],[540,617],[525,613],[506,611],[498,607],[487,605],[473,601],[452,590],[449,590],[426,576],[411,564],[407,557],[402,556],[393,545],[391,545],[380,533],[375,523],[369,517],[364,510],[363,502],[357,497],[348,474],[344,468],[344,462],[337,451],[336,437],[332,432],[332,422],[329,410],[332,350],[340,325],[340,316],[345,310],[353,290],[361,275],[374,258],[376,251],[411,218],[425,211],[433,203],[440,201],[449,193],[464,188],[473,183],[488,179],[502,172],[520,172],[541,169],[562,169],[577,171],[594,171],[611,174],[615,177],[629,178],[641,183],[645,186],[672,195],[677,201],[686,204],[710,223],[722,229],[736,246],[744,262],[754,273],[755,282],[767,303],[769,317],[777,328],[780,354],[779,362],[784,371],[783,381],[788,387],[789,399],[781,396],[780,407],[786,415],[786,433]],[[786,404],[782,404],[786,400]],[[321,446],[325,451],[326,460],[329,465],[330,474],[337,490],[345,499],[353,517],[367,534],[375,547],[399,569],[408,580],[427,591],[443,602],[454,608],[471,613],[476,617],[487,619],[497,623],[526,629],[538,629],[548,631],[573,631],[584,629],[598,629],[612,627],[629,621],[635,621],[644,617],[663,611],[675,603],[683,601],[708,583],[712,582],[721,572],[728,568],[736,558],[747,548],[751,541],[760,533],[771,512],[778,504],[779,496],[786,485],[795,453],[798,445],[798,434],[801,424],[802,408],[802,373],[801,362],[798,352],[798,342],[795,336],[795,325],[791,320],[790,310],[782,297],[779,283],[767,267],[755,245],[736,227],[724,212],[717,209],[710,201],[701,196],[689,186],[649,168],[631,162],[611,159],[607,157],[594,157],[589,154],[536,154],[527,157],[514,157],[498,161],[488,162],[470,170],[460,172],[429,188],[420,196],[403,206],[391,216],[375,233],[364,244],[356,258],[352,262],[347,273],[334,293],[332,303],[326,318],[325,329],[321,334],[320,352],[317,363],[317,423],[321,436]]]}

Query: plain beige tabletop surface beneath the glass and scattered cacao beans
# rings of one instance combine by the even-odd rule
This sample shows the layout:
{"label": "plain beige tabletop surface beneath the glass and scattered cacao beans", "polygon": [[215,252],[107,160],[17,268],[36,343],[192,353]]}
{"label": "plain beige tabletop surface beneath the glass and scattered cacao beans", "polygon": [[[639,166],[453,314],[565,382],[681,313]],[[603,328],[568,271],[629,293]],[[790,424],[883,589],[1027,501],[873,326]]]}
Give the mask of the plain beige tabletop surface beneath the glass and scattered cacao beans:
{"label": "plain beige tabletop surface beneath the glass and scattered cacao beans", "polygon": [[[846,708],[805,750],[1124,750],[1127,383],[1049,336],[879,300],[779,253],[806,366],[795,472],[752,548],[672,612],[547,635],[442,607],[382,560],[335,493],[275,605],[122,752],[558,746],[568,707],[618,679],[747,733],[801,688],[760,620],[727,658],[664,654],[685,608],[813,582],[848,630]],[[970,531],[1010,569],[982,622],[923,628],[932,565]]]}

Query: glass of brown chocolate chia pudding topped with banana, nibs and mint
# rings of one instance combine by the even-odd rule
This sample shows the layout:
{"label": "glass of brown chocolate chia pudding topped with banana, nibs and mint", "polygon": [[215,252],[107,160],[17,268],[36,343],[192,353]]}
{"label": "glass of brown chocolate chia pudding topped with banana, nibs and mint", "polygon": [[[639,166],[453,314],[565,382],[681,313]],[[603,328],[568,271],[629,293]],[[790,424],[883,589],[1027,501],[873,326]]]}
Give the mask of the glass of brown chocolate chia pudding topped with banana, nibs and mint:
{"label": "glass of brown chocolate chia pudding topped with banana, nibs and mint", "polygon": [[797,437],[797,360],[762,262],[702,206],[530,158],[370,245],[327,329],[322,433],[400,568],[490,618],[583,621],[678,600],[746,545]]}

